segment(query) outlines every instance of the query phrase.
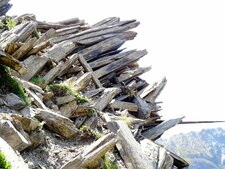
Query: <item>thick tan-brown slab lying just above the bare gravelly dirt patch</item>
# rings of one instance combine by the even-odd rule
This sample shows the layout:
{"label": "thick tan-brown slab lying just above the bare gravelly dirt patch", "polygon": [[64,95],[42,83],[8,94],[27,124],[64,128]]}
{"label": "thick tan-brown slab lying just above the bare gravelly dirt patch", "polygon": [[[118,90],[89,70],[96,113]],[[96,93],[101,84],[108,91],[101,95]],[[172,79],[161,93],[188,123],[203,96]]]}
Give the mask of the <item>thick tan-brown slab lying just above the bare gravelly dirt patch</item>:
{"label": "thick tan-brown slab lying just above the bare gravelly dirt patch", "polygon": [[35,118],[44,121],[46,126],[50,130],[66,138],[73,137],[79,134],[79,130],[76,128],[73,121],[71,121],[67,117],[48,110],[37,110],[39,112],[35,115]]}

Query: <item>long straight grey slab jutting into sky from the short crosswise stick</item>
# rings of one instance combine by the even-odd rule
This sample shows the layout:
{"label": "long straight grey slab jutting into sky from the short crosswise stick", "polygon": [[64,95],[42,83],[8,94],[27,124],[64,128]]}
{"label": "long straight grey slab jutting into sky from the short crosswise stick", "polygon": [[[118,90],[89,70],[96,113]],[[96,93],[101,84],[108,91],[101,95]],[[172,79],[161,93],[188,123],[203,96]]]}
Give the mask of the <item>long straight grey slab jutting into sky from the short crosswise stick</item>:
{"label": "long straight grey slab jutting into sky from the short crosswise stick", "polygon": [[118,69],[121,69],[121,67],[124,67],[126,66],[127,64],[131,63],[131,62],[134,62],[138,59],[140,59],[141,57],[143,57],[144,55],[147,54],[147,51],[146,50],[142,50],[142,51],[137,51],[137,52],[134,52],[128,56],[125,56],[119,60],[116,60],[114,62],[112,62],[111,64],[108,64],[98,70],[95,71],[95,76],[97,78],[100,78],[104,75],[107,75],[111,72],[114,72]]}

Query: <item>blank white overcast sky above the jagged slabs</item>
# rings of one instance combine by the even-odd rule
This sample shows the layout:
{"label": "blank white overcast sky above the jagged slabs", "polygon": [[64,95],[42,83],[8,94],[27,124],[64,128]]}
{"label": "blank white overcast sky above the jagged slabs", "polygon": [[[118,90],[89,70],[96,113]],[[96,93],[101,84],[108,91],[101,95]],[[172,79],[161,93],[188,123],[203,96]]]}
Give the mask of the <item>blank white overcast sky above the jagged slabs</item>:
{"label": "blank white overcast sky above the jagged slabs", "polygon": [[[225,120],[225,1],[223,0],[11,0],[8,13],[34,13],[38,20],[72,17],[93,24],[109,16],[137,19],[130,49],[147,49],[141,65],[152,65],[147,81],[166,76],[159,97],[165,118]],[[209,127],[212,125],[201,125]],[[225,128],[225,123],[216,124]],[[179,126],[180,127],[180,126]],[[199,128],[197,125],[181,128]],[[175,130],[178,130],[177,128]]]}

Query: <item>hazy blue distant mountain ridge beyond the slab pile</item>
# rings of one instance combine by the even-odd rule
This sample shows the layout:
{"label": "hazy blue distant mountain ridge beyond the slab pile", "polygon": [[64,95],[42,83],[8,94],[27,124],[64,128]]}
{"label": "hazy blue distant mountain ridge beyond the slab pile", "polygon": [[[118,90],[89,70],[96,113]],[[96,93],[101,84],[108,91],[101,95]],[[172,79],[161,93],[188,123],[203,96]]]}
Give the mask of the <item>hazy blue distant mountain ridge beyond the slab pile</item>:
{"label": "hazy blue distant mountain ridge beyond the slab pile", "polygon": [[204,129],[159,140],[190,163],[190,169],[225,169],[225,130]]}

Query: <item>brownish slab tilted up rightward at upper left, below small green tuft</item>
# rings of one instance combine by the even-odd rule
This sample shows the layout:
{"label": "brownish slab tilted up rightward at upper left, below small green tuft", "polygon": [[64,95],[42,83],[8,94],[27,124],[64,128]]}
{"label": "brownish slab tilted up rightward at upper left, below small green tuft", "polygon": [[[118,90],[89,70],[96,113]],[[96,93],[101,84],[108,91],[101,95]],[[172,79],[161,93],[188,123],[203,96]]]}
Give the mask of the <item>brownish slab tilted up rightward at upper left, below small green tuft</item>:
{"label": "brownish slab tilted up rightward at upper left, below small green tuft", "polygon": [[27,43],[25,43],[15,53],[13,53],[13,57],[16,59],[21,59],[24,55],[31,51],[36,40],[37,38],[31,38]]}

